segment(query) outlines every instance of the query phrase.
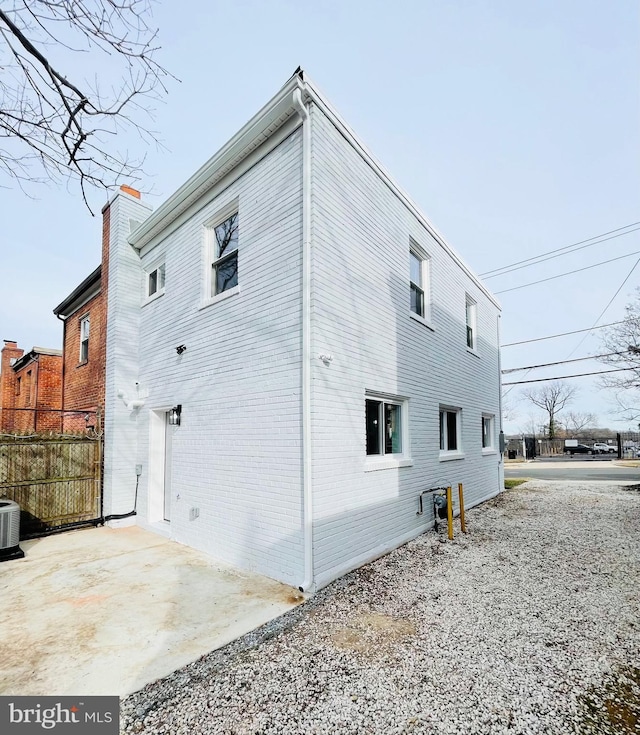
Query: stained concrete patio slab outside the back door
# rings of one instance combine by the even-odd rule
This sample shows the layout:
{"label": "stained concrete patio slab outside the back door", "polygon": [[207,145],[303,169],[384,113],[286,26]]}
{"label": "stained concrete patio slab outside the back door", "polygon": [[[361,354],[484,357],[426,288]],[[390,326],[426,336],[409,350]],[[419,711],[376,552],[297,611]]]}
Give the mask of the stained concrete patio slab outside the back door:
{"label": "stained concrete patio slab outside the back door", "polygon": [[0,564],[0,694],[124,696],[281,615],[294,588],[137,527]]}

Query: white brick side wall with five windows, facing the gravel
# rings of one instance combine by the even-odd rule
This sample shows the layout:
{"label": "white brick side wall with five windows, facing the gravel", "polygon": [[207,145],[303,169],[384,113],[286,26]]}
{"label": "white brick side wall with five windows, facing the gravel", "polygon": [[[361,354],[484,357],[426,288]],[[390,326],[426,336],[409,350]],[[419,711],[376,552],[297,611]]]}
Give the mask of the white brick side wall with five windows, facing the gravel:
{"label": "white brick side wall with five windows, facing the gravel", "polygon": [[[418,219],[312,110],[312,421],[317,583],[422,532],[421,490],[497,493],[502,465],[483,455],[481,415],[498,424],[498,310]],[[409,239],[431,257],[433,330],[409,312]],[[478,353],[466,347],[465,294],[477,302]],[[329,353],[324,365],[317,355]],[[413,465],[365,471],[365,391],[409,399]],[[462,408],[465,457],[439,458],[439,406]],[[496,436],[497,442],[497,436]]]}

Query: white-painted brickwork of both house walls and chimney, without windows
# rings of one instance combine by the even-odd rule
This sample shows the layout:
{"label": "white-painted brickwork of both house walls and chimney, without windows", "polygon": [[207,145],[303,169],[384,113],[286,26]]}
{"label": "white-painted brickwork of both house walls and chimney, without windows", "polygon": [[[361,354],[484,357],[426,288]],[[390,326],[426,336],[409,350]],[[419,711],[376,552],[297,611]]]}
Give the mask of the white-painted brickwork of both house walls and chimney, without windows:
{"label": "white-painted brickwork of both house walls and chimney, without windows", "polygon": [[[139,463],[138,523],[294,585],[304,576],[301,146],[298,129],[142,257],[125,239],[128,218],[144,216],[130,198],[114,203],[105,464],[105,512],[131,509]],[[236,201],[240,293],[203,308],[204,225]],[[410,238],[431,259],[432,328],[410,317]],[[315,107],[311,240],[322,586],[428,528],[430,504],[416,516],[421,490],[462,482],[469,506],[501,488],[500,457],[481,448],[483,413],[495,415],[498,440],[498,309]],[[145,269],[161,261],[165,293],[141,305]],[[466,347],[465,294],[477,302],[477,355]],[[136,380],[145,405],[131,412],[115,392],[135,398]],[[410,466],[367,471],[365,391],[408,399]],[[156,523],[153,432],[178,403],[169,527]],[[462,409],[463,459],[439,456],[440,404]]]}

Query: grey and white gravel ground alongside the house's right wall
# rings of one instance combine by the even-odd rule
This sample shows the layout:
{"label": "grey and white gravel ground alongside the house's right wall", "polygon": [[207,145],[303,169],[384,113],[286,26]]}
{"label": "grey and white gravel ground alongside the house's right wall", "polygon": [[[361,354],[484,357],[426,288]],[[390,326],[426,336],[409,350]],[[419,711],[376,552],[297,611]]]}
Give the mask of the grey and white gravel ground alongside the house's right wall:
{"label": "grey and white gravel ground alongside the house's right wall", "polygon": [[640,733],[640,492],[532,481],[133,694],[126,733]]}

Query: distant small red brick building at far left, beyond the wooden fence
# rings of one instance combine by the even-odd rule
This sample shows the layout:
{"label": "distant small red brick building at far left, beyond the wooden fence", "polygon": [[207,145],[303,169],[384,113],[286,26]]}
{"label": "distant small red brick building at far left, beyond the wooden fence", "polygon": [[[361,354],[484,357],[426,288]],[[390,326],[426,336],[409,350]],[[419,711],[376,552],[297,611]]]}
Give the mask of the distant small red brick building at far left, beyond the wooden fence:
{"label": "distant small red brick building at far left, beyond the wooden fence", "polygon": [[60,431],[62,351],[34,347],[24,354],[5,340],[0,360],[0,431],[30,434]]}

